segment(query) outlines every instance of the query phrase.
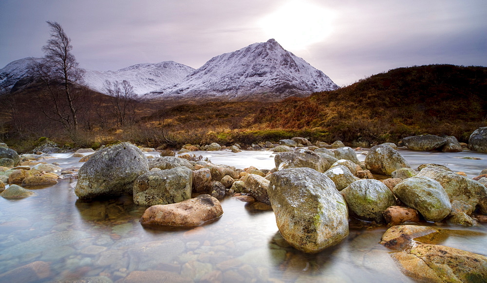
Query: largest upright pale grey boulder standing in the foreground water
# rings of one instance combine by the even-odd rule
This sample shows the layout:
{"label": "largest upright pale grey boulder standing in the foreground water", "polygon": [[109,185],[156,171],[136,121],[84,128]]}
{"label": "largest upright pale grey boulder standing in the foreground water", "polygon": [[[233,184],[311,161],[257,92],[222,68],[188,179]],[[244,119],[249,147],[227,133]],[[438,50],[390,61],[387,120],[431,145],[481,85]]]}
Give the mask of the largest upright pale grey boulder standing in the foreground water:
{"label": "largest upright pale grey boulder standing in the foreground water", "polygon": [[326,175],[280,170],[271,175],[268,193],[279,231],[295,248],[317,253],[348,236],[347,205]]}

